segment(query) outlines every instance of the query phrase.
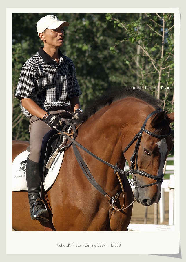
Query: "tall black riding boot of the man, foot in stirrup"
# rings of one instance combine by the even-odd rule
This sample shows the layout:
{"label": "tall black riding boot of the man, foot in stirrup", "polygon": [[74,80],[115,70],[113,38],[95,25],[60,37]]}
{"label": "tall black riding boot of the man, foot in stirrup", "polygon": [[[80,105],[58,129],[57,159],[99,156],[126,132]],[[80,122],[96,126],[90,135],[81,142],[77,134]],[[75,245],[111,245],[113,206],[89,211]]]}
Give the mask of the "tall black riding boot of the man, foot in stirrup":
{"label": "tall black riding boot of the man, foot in stirrup", "polygon": [[41,177],[41,164],[27,158],[26,182],[28,188],[28,200],[30,204],[30,216],[32,219],[39,219],[44,221],[49,216],[48,211],[46,210],[43,201],[36,201],[36,199],[39,198],[39,191],[42,180]]}

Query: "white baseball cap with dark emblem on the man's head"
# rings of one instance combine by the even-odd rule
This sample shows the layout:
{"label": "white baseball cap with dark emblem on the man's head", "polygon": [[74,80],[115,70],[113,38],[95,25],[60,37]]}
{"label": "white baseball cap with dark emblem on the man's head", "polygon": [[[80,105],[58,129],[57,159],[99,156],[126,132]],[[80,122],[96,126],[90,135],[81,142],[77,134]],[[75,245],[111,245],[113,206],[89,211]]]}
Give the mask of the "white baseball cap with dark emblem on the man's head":
{"label": "white baseball cap with dark emblem on the man's head", "polygon": [[69,26],[69,23],[67,21],[60,21],[55,15],[46,15],[37,22],[36,29],[38,36],[45,29],[56,29],[60,25]]}

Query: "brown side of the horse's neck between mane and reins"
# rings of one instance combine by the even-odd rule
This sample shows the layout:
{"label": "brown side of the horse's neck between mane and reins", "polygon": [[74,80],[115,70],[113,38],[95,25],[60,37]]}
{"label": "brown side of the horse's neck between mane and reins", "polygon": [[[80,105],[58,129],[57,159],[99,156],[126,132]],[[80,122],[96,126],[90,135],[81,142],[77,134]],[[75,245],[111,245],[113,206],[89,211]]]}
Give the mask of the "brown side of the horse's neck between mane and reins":
{"label": "brown side of the horse's neck between mane and reins", "polygon": [[[132,108],[127,107],[131,102]],[[126,141],[132,140],[143,121],[139,107],[144,112],[153,111],[153,108],[147,109],[149,106],[145,102],[135,98],[132,101],[131,98],[125,98],[105,106],[79,129],[80,144],[82,142],[92,153],[113,165],[115,161],[124,163],[123,149],[127,146]]]}

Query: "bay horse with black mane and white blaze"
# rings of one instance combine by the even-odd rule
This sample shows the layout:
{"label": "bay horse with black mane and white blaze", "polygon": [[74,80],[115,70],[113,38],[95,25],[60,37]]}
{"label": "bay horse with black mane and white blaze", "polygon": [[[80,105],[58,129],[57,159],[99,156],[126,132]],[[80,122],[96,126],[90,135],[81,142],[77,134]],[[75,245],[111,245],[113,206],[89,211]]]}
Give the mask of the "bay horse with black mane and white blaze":
{"label": "bay horse with black mane and white blaze", "polygon": [[[27,192],[12,191],[12,228],[128,231],[135,199],[149,206],[161,197],[163,167],[173,145],[170,123],[174,113],[165,114],[160,102],[145,91],[126,88],[93,101],[76,121],[81,123],[74,140],[76,151],[72,143],[54,184],[43,193],[49,221],[31,220]],[[12,141],[12,161],[28,145]],[[126,160],[131,164],[127,172],[123,170]]]}

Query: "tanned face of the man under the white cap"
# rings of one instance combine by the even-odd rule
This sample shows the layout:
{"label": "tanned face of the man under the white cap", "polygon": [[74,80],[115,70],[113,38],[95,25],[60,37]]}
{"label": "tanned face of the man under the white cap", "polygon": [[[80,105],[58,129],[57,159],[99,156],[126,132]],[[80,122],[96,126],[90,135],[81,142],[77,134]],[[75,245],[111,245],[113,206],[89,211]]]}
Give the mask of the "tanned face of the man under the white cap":
{"label": "tanned face of the man under the white cap", "polygon": [[45,43],[50,46],[60,47],[63,45],[63,26],[56,29],[46,29],[43,33]]}

